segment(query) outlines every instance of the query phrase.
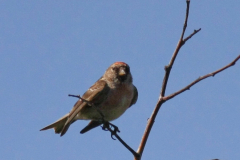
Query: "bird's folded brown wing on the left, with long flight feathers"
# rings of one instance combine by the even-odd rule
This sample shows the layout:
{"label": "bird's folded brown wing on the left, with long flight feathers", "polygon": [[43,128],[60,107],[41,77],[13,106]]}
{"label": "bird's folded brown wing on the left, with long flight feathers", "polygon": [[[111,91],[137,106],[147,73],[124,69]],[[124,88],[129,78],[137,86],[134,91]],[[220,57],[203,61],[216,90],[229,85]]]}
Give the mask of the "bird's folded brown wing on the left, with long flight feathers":
{"label": "bird's folded brown wing on the left, with long flight feathers", "polygon": [[[93,86],[91,86],[83,94],[82,98],[97,106],[98,104],[101,104],[107,98],[109,90],[110,90],[110,88],[109,88],[108,84],[104,80],[102,80],[102,78],[100,78]],[[66,133],[71,122],[74,121],[74,117],[85,107],[89,107],[89,104],[87,102],[84,102],[81,99],[79,99],[76,102],[73,109],[69,113],[68,120],[63,127],[61,136],[63,136]]]}

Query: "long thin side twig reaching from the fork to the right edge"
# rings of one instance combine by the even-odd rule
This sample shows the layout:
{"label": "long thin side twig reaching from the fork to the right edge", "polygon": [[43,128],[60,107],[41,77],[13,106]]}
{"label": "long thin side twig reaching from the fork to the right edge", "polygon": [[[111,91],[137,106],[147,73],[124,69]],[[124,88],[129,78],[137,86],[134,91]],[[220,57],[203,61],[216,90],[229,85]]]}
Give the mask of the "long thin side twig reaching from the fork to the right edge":
{"label": "long thin side twig reaching from the fork to the right edge", "polygon": [[240,55],[238,55],[238,57],[235,58],[235,59],[234,59],[231,63],[229,63],[228,65],[226,65],[226,66],[224,66],[224,67],[222,67],[222,68],[220,68],[220,69],[218,69],[218,70],[216,70],[216,71],[214,71],[214,72],[212,72],[212,73],[209,73],[209,74],[206,74],[206,75],[204,75],[204,76],[199,77],[198,79],[196,79],[195,81],[193,81],[192,83],[190,83],[189,85],[187,85],[186,87],[184,87],[183,89],[181,89],[181,90],[179,90],[179,91],[177,91],[177,92],[175,92],[175,93],[173,93],[173,94],[170,94],[169,96],[165,96],[165,97],[163,97],[162,99],[163,99],[164,101],[168,101],[168,100],[172,99],[173,97],[179,95],[180,93],[182,93],[182,92],[184,92],[184,91],[186,91],[186,90],[190,90],[190,88],[191,88],[193,85],[195,85],[196,83],[198,83],[198,82],[200,82],[200,81],[202,81],[202,80],[204,80],[204,79],[206,79],[206,78],[208,78],[208,77],[215,76],[216,74],[224,71],[225,69],[234,66],[235,63],[236,63],[239,59],[240,59]]}

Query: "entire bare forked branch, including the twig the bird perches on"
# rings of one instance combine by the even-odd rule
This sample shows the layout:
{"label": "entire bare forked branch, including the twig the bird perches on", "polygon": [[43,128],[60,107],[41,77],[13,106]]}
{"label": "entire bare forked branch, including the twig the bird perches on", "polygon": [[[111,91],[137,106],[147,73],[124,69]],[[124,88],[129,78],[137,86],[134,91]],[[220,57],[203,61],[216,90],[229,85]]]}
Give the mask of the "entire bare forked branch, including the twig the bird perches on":
{"label": "entire bare forked branch, including the twig the bird perches on", "polygon": [[[113,136],[115,136],[134,156],[134,160],[140,160],[141,157],[142,157],[142,154],[143,154],[143,150],[145,148],[145,145],[146,145],[146,142],[147,142],[147,139],[149,137],[149,134],[150,134],[150,131],[152,129],[152,126],[154,124],[154,121],[155,121],[155,118],[157,116],[157,113],[159,111],[159,109],[161,108],[162,104],[165,103],[166,101],[174,98],[175,96],[183,93],[184,91],[186,90],[190,90],[190,88],[197,84],[198,82],[208,78],[208,77],[211,77],[211,76],[215,76],[216,74],[224,71],[225,69],[228,69],[229,67],[235,65],[235,63],[240,59],[240,55],[238,55],[231,63],[229,63],[228,65],[212,72],[212,73],[209,73],[209,74],[206,74],[204,76],[201,76],[199,78],[197,78],[195,81],[193,81],[192,83],[190,83],[189,85],[185,86],[184,88],[182,88],[181,90],[175,92],[175,93],[172,93],[168,96],[165,96],[165,91],[166,91],[166,88],[167,88],[167,83],[168,83],[168,78],[170,76],[170,72],[171,72],[171,69],[173,67],[173,64],[175,62],[175,59],[181,49],[181,47],[190,39],[192,38],[195,34],[197,34],[199,31],[201,31],[201,28],[199,29],[195,29],[189,36],[187,36],[186,38],[183,38],[184,37],[184,34],[185,34],[185,31],[186,31],[186,28],[187,28],[187,22],[188,22],[188,15],[189,15],[189,8],[190,8],[190,0],[186,0],[186,3],[187,3],[187,7],[186,7],[186,16],[185,16],[185,21],[184,21],[184,25],[183,25],[183,30],[182,30],[182,33],[181,33],[181,37],[178,41],[178,44],[177,44],[177,47],[175,49],[175,51],[173,52],[173,55],[172,55],[172,58],[169,62],[168,65],[166,65],[164,67],[164,70],[165,70],[165,76],[163,78],[163,82],[162,82],[162,88],[161,88],[161,92],[160,92],[160,96],[159,96],[159,99],[158,99],[158,102],[153,110],[153,113],[151,115],[151,117],[148,119],[148,122],[147,122],[147,126],[146,126],[146,129],[144,131],[144,134],[143,134],[143,137],[141,139],[141,142],[139,144],[139,147],[138,147],[138,150],[137,152],[135,152],[131,147],[128,146],[128,144],[126,142],[124,142],[121,137],[119,137],[119,135],[117,134],[117,132],[120,132],[118,130],[118,127],[107,122],[107,121],[104,121],[104,115],[101,113],[101,111],[96,107],[94,106],[94,104],[84,100],[83,98],[80,97],[80,95],[69,95],[69,96],[72,96],[72,97],[77,97],[79,99],[81,99],[82,101],[88,103],[89,105],[95,107],[97,109],[97,111],[99,112],[99,114],[102,116],[103,118],[103,129],[104,130],[108,130],[111,132],[111,137],[113,138]],[[112,129],[111,127],[113,127],[114,129]],[[114,139],[114,138],[113,138]]]}

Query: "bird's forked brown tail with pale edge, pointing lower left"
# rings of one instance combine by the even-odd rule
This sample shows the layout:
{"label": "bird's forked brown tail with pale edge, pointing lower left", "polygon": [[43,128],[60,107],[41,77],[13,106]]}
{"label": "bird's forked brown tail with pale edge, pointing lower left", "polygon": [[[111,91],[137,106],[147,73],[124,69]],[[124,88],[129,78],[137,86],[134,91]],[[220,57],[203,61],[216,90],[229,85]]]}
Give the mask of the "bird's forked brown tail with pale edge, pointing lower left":
{"label": "bird's forked brown tail with pale edge, pointing lower left", "polygon": [[[69,113],[66,114],[65,116],[63,116],[62,118],[60,118],[59,120],[57,120],[56,122],[50,124],[49,126],[44,127],[40,131],[44,131],[44,130],[47,130],[47,129],[54,128],[56,134],[61,133],[66,121],[68,120],[68,115],[69,115]],[[65,131],[65,133],[66,133],[66,131]]]}

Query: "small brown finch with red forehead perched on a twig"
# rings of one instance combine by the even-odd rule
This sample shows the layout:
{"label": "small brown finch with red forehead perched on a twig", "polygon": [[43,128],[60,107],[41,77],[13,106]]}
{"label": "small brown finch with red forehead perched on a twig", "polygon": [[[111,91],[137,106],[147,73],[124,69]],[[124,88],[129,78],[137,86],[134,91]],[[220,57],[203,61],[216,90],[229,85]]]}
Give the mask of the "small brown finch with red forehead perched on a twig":
{"label": "small brown finch with red forehead perched on a twig", "polygon": [[108,122],[119,118],[137,102],[138,91],[132,81],[128,64],[113,63],[68,114],[40,131],[54,128],[55,133],[63,136],[76,120],[91,120],[80,132],[85,133],[103,124],[103,120]]}

